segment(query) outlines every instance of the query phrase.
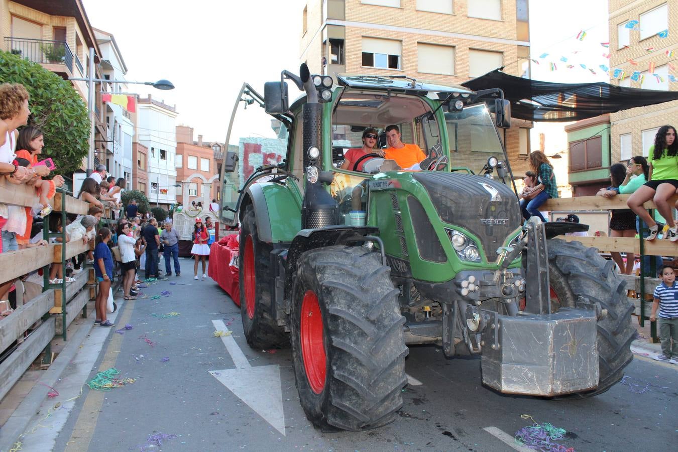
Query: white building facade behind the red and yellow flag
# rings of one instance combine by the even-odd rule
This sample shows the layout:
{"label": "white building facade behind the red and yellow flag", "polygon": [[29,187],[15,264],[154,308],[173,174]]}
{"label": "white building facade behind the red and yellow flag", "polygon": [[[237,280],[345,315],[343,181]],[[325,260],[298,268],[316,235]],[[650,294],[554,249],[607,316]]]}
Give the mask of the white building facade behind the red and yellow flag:
{"label": "white building facade behind the red and yellow flag", "polygon": [[[111,33],[94,28],[94,35],[101,52],[100,70],[104,79],[125,80],[127,66]],[[131,94],[125,83],[102,83],[102,94]],[[136,95],[134,95],[136,97]],[[134,123],[125,106],[106,102],[106,148],[105,164],[115,179],[123,178],[127,187],[132,186],[132,136]],[[95,145],[97,145],[95,143]]]}

